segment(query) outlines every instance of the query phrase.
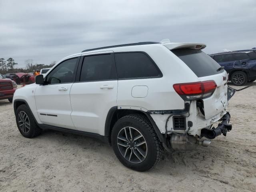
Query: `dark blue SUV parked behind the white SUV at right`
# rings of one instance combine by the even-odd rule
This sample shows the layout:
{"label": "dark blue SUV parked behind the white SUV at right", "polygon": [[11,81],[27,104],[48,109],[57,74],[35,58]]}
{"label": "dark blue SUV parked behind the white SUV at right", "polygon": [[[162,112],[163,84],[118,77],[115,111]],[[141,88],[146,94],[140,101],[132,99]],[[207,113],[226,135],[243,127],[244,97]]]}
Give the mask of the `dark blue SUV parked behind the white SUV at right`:
{"label": "dark blue SUV parked behind the white SUV at right", "polygon": [[256,80],[256,50],[238,50],[210,54],[228,72],[232,84],[242,86]]}

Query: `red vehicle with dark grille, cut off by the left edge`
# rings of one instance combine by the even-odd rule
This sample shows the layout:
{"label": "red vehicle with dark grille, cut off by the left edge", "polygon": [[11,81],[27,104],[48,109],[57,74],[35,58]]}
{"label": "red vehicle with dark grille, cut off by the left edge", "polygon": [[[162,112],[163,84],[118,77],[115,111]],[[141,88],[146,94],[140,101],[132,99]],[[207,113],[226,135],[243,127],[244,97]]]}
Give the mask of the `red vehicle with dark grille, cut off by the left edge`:
{"label": "red vehicle with dark grille, cut off by the left edge", "polygon": [[17,89],[17,84],[11,79],[4,78],[0,74],[0,100],[8,99],[12,102],[13,94]]}

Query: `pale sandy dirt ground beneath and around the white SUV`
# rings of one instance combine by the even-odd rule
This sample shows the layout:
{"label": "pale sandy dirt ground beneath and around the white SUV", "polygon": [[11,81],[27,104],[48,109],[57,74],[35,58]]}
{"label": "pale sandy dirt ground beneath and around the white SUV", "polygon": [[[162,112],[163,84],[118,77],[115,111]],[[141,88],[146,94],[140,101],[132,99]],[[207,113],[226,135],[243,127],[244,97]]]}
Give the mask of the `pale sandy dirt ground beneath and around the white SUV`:
{"label": "pale sandy dirt ground beneath and around the white SUV", "polygon": [[208,148],[168,154],[148,172],[118,161],[112,148],[47,131],[24,138],[12,104],[0,100],[0,191],[256,191],[256,86],[230,100],[233,130]]}

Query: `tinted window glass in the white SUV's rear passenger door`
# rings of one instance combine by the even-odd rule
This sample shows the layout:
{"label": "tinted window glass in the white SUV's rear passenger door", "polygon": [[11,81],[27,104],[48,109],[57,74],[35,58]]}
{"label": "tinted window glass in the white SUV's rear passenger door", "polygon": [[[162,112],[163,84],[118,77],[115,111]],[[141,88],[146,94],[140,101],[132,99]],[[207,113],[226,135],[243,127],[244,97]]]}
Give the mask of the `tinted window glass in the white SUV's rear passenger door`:
{"label": "tinted window glass in the white SUV's rear passenger door", "polygon": [[114,54],[85,56],[80,81],[116,80]]}

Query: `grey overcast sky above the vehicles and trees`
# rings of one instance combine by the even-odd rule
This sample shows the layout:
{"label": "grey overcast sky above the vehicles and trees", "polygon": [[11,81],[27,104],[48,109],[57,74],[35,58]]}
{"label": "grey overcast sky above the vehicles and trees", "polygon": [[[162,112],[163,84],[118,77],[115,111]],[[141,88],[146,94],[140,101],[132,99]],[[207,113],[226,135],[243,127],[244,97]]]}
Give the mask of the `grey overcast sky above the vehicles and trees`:
{"label": "grey overcast sky above the vehicles and trees", "polygon": [[50,64],[84,49],[204,42],[206,53],[256,46],[256,0],[0,0],[0,58]]}

